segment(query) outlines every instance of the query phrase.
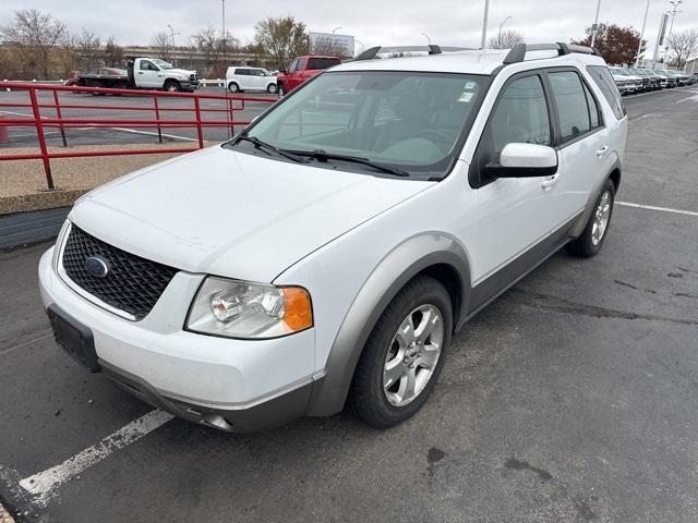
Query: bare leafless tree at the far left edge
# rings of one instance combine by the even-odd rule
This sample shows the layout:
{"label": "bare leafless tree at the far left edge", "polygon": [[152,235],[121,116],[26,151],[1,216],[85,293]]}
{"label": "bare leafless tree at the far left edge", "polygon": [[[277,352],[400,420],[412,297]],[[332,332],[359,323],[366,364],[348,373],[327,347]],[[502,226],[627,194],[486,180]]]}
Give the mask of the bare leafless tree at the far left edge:
{"label": "bare leafless tree at the far left edge", "polygon": [[2,39],[22,54],[27,66],[44,78],[50,74],[51,52],[69,36],[65,24],[36,9],[15,11],[14,20],[2,27],[1,34]]}

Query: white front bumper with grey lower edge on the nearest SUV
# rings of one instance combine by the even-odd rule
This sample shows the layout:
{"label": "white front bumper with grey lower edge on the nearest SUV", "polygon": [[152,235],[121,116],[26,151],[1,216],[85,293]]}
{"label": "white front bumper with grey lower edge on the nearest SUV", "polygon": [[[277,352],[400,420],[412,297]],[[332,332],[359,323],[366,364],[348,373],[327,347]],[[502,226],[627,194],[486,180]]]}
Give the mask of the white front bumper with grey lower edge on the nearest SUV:
{"label": "white front bumper with grey lower edge on the nearest SUV", "polygon": [[[226,430],[254,430],[304,413],[313,381],[322,377],[313,372],[314,329],[272,340],[185,331],[189,304],[204,276],[183,271],[144,319],[131,321],[69,287],[58,273],[53,251],[39,263],[44,306],[57,304],[89,328],[100,366],[112,378],[125,376],[122,385],[137,384],[130,386],[131,392]],[[274,416],[276,404],[282,409]]]}

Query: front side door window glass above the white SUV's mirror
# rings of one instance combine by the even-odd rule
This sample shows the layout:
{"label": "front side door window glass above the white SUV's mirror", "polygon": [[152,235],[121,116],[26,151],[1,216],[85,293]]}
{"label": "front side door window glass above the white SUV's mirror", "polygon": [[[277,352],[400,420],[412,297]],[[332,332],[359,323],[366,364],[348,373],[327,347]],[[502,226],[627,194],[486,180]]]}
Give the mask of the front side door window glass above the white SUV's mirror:
{"label": "front side door window glass above the white SUV's mirror", "polygon": [[551,144],[547,105],[539,76],[516,80],[506,87],[490,122],[490,130],[494,158],[507,144]]}

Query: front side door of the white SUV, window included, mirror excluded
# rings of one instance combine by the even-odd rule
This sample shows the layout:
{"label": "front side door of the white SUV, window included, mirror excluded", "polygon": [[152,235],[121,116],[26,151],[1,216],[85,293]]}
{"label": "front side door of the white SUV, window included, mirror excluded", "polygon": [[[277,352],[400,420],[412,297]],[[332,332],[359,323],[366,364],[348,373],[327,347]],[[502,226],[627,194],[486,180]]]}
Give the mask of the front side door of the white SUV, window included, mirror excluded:
{"label": "front side door of the white SUV, window included, mirror excluded", "polygon": [[507,144],[554,145],[552,106],[543,85],[540,72],[515,75],[505,84],[473,157],[470,183],[478,195],[479,216],[478,233],[468,246],[477,288],[473,306],[545,256],[573,211],[558,202],[557,174],[483,178],[483,167],[498,162]]}

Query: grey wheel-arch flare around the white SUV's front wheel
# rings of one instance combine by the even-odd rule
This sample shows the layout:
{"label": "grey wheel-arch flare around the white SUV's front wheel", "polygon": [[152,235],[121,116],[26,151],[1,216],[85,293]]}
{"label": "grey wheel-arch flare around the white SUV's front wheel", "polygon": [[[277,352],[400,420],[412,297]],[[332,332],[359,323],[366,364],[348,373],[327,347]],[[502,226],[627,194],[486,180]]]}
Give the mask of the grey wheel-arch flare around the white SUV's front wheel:
{"label": "grey wheel-arch flare around the white SUV's front wheel", "polygon": [[361,351],[381,314],[410,279],[434,265],[446,265],[457,275],[461,304],[454,311],[454,323],[461,324],[471,289],[465,248],[455,239],[436,232],[405,241],[383,258],[354,297],[329,352],[325,377],[313,386],[308,415],[341,411]]}

